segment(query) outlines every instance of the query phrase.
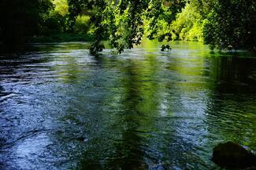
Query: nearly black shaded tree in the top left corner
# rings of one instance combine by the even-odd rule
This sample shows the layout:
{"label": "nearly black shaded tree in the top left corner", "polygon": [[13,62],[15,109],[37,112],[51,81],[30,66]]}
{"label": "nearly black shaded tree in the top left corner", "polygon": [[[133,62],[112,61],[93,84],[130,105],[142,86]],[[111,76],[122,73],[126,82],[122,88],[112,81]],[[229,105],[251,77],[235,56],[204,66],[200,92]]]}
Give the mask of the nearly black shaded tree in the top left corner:
{"label": "nearly black shaded tree in the top left corner", "polygon": [[3,49],[25,42],[39,32],[43,17],[53,8],[50,0],[1,0],[0,45]]}

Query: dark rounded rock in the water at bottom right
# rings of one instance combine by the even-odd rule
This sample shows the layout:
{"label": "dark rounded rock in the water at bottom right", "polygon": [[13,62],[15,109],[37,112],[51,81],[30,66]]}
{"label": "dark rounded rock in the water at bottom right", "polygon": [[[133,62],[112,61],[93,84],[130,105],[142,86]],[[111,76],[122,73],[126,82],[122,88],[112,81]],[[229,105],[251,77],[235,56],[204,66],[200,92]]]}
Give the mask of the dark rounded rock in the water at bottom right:
{"label": "dark rounded rock in the water at bottom right", "polygon": [[221,166],[247,168],[256,165],[256,156],[243,146],[228,142],[213,148],[213,161]]}

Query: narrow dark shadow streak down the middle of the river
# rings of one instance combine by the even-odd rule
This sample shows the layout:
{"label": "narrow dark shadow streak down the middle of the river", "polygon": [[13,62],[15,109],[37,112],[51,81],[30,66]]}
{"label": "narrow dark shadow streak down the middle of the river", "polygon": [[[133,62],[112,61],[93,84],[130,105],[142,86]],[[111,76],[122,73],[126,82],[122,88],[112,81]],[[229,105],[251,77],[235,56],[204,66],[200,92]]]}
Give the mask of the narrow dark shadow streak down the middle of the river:
{"label": "narrow dark shadow streak down the middle of the river", "polygon": [[[124,88],[122,89],[124,94],[121,94],[121,100],[118,102],[121,109],[115,113],[117,118],[115,118],[113,125],[110,125],[110,127],[114,127],[115,131],[119,131],[120,136],[118,136],[117,141],[112,143],[107,152],[94,148],[84,153],[81,168],[140,169],[139,167],[143,166],[142,138],[137,134],[139,126],[141,126],[139,121],[142,121],[141,118],[143,118],[143,113],[138,108],[142,98],[139,92],[139,72],[136,72],[135,64],[131,64],[131,62],[128,60],[126,63],[128,65],[123,68],[124,79],[121,86]],[[103,138],[107,135],[102,134]],[[95,159],[93,153],[100,156],[104,155],[104,157]]]}

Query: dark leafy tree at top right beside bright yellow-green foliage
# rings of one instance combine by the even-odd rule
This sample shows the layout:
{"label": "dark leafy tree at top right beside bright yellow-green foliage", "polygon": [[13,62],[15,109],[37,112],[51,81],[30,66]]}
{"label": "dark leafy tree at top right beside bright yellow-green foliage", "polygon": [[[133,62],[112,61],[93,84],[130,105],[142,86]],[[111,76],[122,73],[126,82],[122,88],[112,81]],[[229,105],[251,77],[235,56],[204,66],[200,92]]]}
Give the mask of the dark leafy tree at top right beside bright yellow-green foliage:
{"label": "dark leafy tree at top right beside bright yellow-green foliage", "polygon": [[216,0],[204,24],[204,41],[211,49],[255,49],[256,2]]}

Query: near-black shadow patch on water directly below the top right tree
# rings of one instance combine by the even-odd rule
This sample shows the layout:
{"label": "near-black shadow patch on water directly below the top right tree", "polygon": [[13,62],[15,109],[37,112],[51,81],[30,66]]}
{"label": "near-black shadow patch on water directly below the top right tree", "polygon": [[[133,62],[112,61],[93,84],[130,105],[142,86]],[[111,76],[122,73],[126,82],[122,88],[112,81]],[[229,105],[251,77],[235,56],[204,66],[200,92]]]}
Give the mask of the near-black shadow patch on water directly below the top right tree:
{"label": "near-black shadow patch on water directly below the top right tree", "polygon": [[255,93],[255,58],[219,56],[214,62],[213,77],[216,79],[216,91],[220,93]]}

